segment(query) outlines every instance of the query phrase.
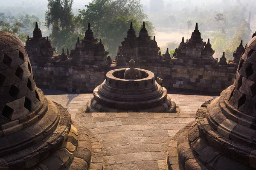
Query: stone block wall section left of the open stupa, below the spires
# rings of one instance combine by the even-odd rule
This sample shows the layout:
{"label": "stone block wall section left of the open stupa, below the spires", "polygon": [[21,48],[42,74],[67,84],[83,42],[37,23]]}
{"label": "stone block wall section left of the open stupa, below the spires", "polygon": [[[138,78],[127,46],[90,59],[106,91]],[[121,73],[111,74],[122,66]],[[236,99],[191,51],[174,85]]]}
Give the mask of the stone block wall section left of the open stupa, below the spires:
{"label": "stone block wall section left of the open stupa, below the spires", "polygon": [[98,65],[84,65],[83,68],[70,66],[69,61],[32,64],[35,82],[39,88],[76,93],[91,93],[105,80],[105,68]]}

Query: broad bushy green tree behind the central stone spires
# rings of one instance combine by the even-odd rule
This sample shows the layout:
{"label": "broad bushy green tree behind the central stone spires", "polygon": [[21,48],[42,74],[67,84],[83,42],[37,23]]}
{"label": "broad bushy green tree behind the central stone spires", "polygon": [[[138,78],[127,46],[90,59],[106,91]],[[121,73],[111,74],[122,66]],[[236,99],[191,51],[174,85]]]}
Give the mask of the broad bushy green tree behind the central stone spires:
{"label": "broad bushy green tree behind the central stone spires", "polygon": [[[130,22],[139,34],[143,20],[147,15],[143,13],[140,0],[93,0],[79,10],[79,18],[83,31],[87,29],[87,23],[91,24],[94,37],[101,38],[110,55],[116,55],[117,47],[126,37]],[[149,34],[153,33],[152,23],[145,22]]]}

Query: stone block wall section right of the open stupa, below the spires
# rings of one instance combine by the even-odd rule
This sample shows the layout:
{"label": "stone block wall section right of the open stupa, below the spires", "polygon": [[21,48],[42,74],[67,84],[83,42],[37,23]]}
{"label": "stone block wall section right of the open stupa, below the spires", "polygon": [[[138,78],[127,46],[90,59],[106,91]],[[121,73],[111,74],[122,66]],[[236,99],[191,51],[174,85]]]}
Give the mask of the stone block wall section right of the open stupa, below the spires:
{"label": "stone block wall section right of the open stupa, below the spires", "polygon": [[168,91],[182,91],[196,94],[219,95],[233,84],[236,69],[227,65],[184,66],[164,63],[142,63],[140,68],[152,71],[163,79],[163,86]]}

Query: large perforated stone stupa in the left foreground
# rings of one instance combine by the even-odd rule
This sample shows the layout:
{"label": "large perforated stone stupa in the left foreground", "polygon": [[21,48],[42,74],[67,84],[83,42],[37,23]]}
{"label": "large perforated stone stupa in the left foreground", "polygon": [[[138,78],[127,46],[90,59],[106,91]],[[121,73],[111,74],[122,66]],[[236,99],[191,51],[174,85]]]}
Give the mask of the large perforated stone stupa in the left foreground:
{"label": "large perforated stone stupa in the left foreground", "polygon": [[67,110],[36,87],[22,42],[0,31],[0,169],[69,169],[76,159],[71,167],[86,170],[91,153],[79,152],[87,147],[78,135]]}

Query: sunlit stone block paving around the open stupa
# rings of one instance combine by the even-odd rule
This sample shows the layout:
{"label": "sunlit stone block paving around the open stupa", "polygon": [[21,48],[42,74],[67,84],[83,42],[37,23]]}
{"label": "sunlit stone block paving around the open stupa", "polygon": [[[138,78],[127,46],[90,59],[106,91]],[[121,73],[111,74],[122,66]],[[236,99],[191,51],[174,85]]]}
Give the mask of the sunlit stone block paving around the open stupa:
{"label": "sunlit stone block paving around the open stupa", "polygon": [[[90,169],[166,170],[172,137],[195,120],[201,104],[215,96],[169,94],[180,113],[84,113],[93,94],[60,94],[43,90],[48,99],[70,112],[72,119],[87,127],[102,151],[92,154]],[[47,95],[49,94],[49,95]],[[92,148],[97,147],[93,146]]]}

